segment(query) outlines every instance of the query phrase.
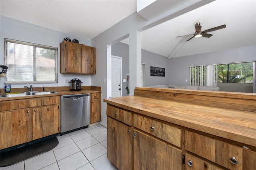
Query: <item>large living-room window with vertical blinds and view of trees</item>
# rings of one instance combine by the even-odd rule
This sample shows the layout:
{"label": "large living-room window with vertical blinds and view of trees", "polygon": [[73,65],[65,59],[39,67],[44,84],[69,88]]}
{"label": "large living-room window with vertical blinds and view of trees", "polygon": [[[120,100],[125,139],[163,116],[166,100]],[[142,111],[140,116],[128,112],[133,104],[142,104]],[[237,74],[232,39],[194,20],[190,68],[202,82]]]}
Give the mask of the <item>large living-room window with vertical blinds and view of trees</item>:
{"label": "large living-room window with vertical blinds and view of trees", "polygon": [[190,67],[190,85],[218,86],[221,91],[256,92],[255,61]]}

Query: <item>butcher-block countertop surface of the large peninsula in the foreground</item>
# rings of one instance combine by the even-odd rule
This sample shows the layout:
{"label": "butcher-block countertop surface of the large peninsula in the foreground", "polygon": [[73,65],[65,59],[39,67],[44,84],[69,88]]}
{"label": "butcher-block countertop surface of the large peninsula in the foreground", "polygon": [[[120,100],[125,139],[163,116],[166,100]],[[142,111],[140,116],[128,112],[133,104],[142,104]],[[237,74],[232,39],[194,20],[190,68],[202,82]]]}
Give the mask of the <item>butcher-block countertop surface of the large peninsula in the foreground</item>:
{"label": "butcher-block countertop surface of the large peninsula in the foreground", "polygon": [[182,127],[256,147],[256,113],[254,111],[204,106],[137,95],[104,99],[104,102]]}

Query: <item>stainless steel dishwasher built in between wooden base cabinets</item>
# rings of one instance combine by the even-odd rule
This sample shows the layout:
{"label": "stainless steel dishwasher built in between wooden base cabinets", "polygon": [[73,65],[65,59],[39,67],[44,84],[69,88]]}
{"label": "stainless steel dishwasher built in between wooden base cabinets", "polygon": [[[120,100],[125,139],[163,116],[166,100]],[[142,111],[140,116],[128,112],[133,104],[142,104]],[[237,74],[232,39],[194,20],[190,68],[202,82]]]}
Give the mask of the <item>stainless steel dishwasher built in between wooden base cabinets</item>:
{"label": "stainless steel dishwasher built in between wooden base cabinets", "polygon": [[61,96],[61,131],[65,134],[90,124],[90,94]]}

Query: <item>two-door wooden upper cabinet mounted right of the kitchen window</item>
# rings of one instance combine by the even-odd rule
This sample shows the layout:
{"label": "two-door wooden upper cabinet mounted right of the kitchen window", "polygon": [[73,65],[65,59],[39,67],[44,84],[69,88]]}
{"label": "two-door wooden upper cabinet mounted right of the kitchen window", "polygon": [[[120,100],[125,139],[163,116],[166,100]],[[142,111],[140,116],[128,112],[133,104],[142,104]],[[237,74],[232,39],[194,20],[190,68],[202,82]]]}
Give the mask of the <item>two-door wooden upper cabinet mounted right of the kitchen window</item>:
{"label": "two-door wooden upper cabinet mounted right of the kitchen window", "polygon": [[95,47],[60,43],[60,73],[96,74]]}

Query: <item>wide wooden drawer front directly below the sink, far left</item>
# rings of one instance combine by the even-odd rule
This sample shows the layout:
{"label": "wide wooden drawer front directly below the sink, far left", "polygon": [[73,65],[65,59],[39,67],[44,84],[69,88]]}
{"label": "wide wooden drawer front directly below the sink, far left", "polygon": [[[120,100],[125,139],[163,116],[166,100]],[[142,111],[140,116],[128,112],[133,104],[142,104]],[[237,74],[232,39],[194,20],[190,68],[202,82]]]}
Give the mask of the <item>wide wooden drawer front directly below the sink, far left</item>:
{"label": "wide wooden drawer front directly below the sink, far left", "polygon": [[2,101],[1,102],[1,111],[8,111],[14,109],[24,109],[29,107],[36,107],[36,99],[21,99],[13,101]]}

